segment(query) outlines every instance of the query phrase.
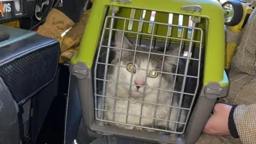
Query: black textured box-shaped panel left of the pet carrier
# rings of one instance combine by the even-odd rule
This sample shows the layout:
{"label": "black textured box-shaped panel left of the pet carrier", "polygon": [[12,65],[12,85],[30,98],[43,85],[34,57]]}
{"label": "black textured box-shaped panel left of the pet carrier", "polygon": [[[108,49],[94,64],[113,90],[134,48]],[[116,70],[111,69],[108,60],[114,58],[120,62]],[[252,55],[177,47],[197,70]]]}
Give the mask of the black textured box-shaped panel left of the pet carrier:
{"label": "black textured box-shaped panel left of the pet carrier", "polygon": [[22,105],[55,78],[60,46],[57,40],[35,32],[5,28],[11,29],[11,38],[0,43],[0,76]]}

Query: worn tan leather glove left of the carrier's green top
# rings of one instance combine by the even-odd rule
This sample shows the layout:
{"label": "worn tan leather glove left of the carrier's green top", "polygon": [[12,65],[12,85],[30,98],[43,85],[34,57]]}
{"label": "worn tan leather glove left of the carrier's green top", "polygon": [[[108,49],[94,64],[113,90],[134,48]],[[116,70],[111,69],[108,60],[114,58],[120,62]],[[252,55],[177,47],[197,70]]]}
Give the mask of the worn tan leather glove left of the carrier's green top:
{"label": "worn tan leather glove left of the carrier's green top", "polygon": [[[37,34],[55,38],[60,42],[60,63],[68,62],[78,51],[78,45],[81,41],[90,11],[85,11],[79,22],[75,24],[64,13],[57,9],[52,9],[47,15],[44,25],[40,26],[37,30]],[[63,35],[64,33],[66,34]]]}

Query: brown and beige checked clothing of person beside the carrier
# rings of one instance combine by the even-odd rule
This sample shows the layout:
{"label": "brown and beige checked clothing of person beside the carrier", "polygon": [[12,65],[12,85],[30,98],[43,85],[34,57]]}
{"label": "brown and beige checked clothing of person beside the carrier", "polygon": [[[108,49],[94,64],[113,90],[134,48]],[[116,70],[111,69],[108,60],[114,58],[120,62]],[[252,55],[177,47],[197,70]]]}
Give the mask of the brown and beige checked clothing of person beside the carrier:
{"label": "brown and beige checked clothing of person beside the carrier", "polygon": [[[228,39],[237,38],[233,35],[226,36]],[[222,101],[239,105],[234,111],[234,121],[240,139],[203,133],[197,143],[256,143],[256,9],[242,32],[231,63],[229,81],[228,97]]]}

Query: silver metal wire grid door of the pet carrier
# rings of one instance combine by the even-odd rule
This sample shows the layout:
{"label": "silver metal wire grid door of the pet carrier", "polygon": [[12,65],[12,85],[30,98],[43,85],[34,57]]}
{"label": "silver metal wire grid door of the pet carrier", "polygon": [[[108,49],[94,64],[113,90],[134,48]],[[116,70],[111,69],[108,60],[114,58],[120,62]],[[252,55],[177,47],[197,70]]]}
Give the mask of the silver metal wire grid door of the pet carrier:
{"label": "silver metal wire grid door of the pet carrier", "polygon": [[[114,22],[116,20],[123,20],[124,21],[124,27],[123,29],[115,29],[114,28]],[[127,21],[137,21],[137,22],[143,22],[143,23],[149,23],[150,26],[153,26],[153,30],[151,30],[151,33],[141,33],[139,31],[134,32],[134,31],[130,31],[130,30],[126,30],[126,23]],[[110,25],[108,25],[110,23]],[[161,35],[156,35],[154,34],[155,28],[159,25],[163,25],[166,26],[166,36],[161,36]],[[181,29],[181,37],[172,37],[169,36],[169,29],[168,27],[178,27],[179,29]],[[188,26],[180,26],[180,25],[172,25],[172,24],[168,24],[168,23],[161,23],[161,22],[154,22],[154,21],[146,21],[146,20],[137,20],[137,19],[129,19],[129,18],[121,18],[121,17],[115,17],[114,15],[112,16],[107,16],[106,20],[105,20],[105,24],[103,26],[103,30],[102,30],[102,37],[100,40],[100,44],[99,44],[99,49],[98,49],[98,53],[97,53],[97,59],[95,61],[95,69],[94,69],[94,74],[98,74],[98,75],[94,75],[94,105],[95,105],[95,119],[97,119],[97,121],[99,122],[104,122],[106,124],[110,124],[110,125],[125,125],[125,126],[133,126],[136,127],[135,130],[142,130],[142,129],[147,129],[147,130],[152,130],[152,131],[162,131],[162,132],[171,132],[171,133],[177,133],[177,134],[181,134],[183,132],[185,132],[185,127],[188,123],[188,119],[189,119],[189,114],[191,113],[191,108],[193,107],[193,102],[195,101],[196,98],[196,94],[198,92],[198,85],[199,85],[199,79],[200,79],[200,71],[201,71],[201,54],[202,54],[202,39],[203,39],[203,30],[201,28],[196,28],[195,27],[195,23],[193,23],[193,27],[188,27]],[[190,29],[191,30],[191,37],[190,38],[185,38],[185,29]],[[114,32],[116,33],[116,31],[119,31],[123,34],[123,38],[122,38],[122,44],[124,43],[124,33],[130,33],[130,34],[135,34],[137,35],[137,37],[135,37],[134,39],[134,45],[135,45],[135,50],[125,50],[122,46],[121,47],[116,47],[113,45],[113,42],[111,41],[111,37],[114,36]],[[198,31],[198,34],[200,34],[200,41],[195,41],[193,40],[193,35],[195,33],[195,31]],[[108,39],[104,39],[105,36],[108,35]],[[141,35],[145,35],[145,36],[149,36],[151,37],[150,39],[148,39],[148,51],[139,51],[138,50],[138,46],[140,45],[140,36]],[[163,42],[164,45],[164,52],[161,53],[154,53],[153,49],[157,49],[157,47],[155,46],[155,41],[157,38],[164,38],[165,42]],[[179,44],[179,55],[167,55],[166,52],[166,47],[168,47],[168,43],[170,39],[175,39],[175,40],[179,40],[180,44]],[[107,41],[107,44],[105,43]],[[189,46],[187,47],[187,54],[183,51],[182,52],[182,47],[183,47],[183,43],[184,42],[188,42]],[[193,58],[191,55],[193,52],[193,44],[198,44],[199,46],[197,47],[198,49],[198,58]],[[131,55],[132,58],[132,66],[122,66],[121,65],[121,55],[119,58],[115,58],[118,59],[118,65],[113,65],[111,64],[111,60],[113,60],[112,56],[111,56],[111,50],[120,50],[121,53],[122,51],[130,51],[130,52],[134,52],[133,55]],[[152,59],[152,57],[157,57],[161,56],[161,58],[163,58],[163,62],[161,63],[161,69],[160,70],[154,70],[153,72],[149,69],[149,62],[147,63],[147,66],[143,66],[143,68],[140,67],[135,67],[134,62],[137,59],[138,53],[144,53],[148,55],[147,61],[150,61],[150,59]],[[183,55],[182,55],[183,54]],[[183,61],[185,61],[185,66],[184,69],[182,71],[182,74],[178,73],[178,67],[175,68],[174,73],[166,73],[164,72],[164,59],[167,59],[167,57],[173,57],[173,58],[177,58],[177,65],[179,65],[179,61],[182,59]],[[196,75],[189,75],[189,65],[191,64],[191,62],[196,62],[197,65],[196,67],[194,67],[196,70]],[[160,65],[160,64],[159,64]],[[109,66],[113,66],[113,67],[117,67],[117,73],[116,73],[116,81],[110,81],[107,79],[108,76],[108,67]],[[122,81],[118,81],[118,76],[120,75],[119,71],[121,68],[126,68],[126,69],[131,69],[131,81],[130,82],[122,82]],[[149,73],[157,73],[160,77],[160,81],[159,81],[159,86],[158,87],[150,87],[145,85],[137,85],[132,81],[132,77],[134,75],[133,71],[136,70],[143,70],[146,71],[145,73],[149,74]],[[162,75],[163,74],[167,74],[167,75],[173,75],[174,77],[174,81],[173,81],[173,89],[172,90],[168,90],[168,89],[161,89],[161,79],[162,79]],[[182,78],[182,83],[176,83],[178,77]],[[194,79],[193,81],[195,81],[195,85],[194,86],[194,90],[193,91],[186,91],[186,83],[188,83],[188,79]],[[145,77],[145,83],[147,83],[148,76]],[[130,89],[127,90],[127,92],[129,92],[129,98],[121,98],[118,97],[117,92],[114,95],[107,95],[106,91],[107,91],[107,83],[116,83],[115,84],[115,89],[117,90],[118,85],[129,85]],[[180,89],[179,91],[177,91],[177,89],[175,89],[175,86],[179,85]],[[135,87],[135,86],[140,86],[143,87],[143,97],[141,99],[133,99],[131,98],[131,87]],[[154,89],[157,90],[157,99],[155,102],[149,102],[147,100],[145,100],[145,91],[147,89]],[[161,91],[167,91],[170,92],[170,97],[174,98],[175,94],[179,95],[179,102],[177,105],[174,105],[173,103],[173,99],[170,101],[169,104],[163,104],[161,102],[159,102],[158,98],[159,98],[159,93],[161,93]],[[190,97],[191,99],[191,103],[188,107],[183,107],[182,102],[184,101],[184,99],[186,99],[185,97]],[[106,110],[105,109],[105,100],[106,99],[112,99],[114,101],[114,109],[113,110]],[[115,109],[115,105],[116,103],[118,103],[118,101],[127,101],[127,108],[126,108],[126,112],[120,112],[120,110],[118,111],[117,109]],[[139,104],[141,106],[141,111],[137,114],[131,114],[129,113],[129,105],[131,102],[135,102],[135,103],[141,103]],[[154,105],[153,111],[151,111],[151,114],[149,114],[150,116],[143,116],[142,115],[142,111],[143,111],[143,107],[146,107],[147,105]],[[169,113],[166,117],[166,119],[163,118],[157,118],[157,108],[158,107],[165,107],[169,109]],[[175,121],[171,121],[170,120],[170,114],[171,111],[173,109],[177,109],[177,118],[175,118]],[[180,115],[183,113],[182,111],[187,111],[187,118],[186,121],[180,122]],[[110,119],[106,119],[104,118],[104,115],[106,113],[112,113],[113,114],[113,118]],[[126,119],[124,122],[118,122],[115,120],[115,115],[125,115]],[[131,117],[138,117],[138,123],[136,124],[131,124],[129,123],[129,116]],[[143,125],[141,124],[142,119],[151,119],[150,120],[150,125]],[[159,127],[156,124],[156,122],[163,122],[166,124],[166,126],[164,127]],[[170,124],[175,124],[175,128],[170,130],[168,129]],[[179,125],[184,125],[183,129],[181,131],[178,131],[178,126]]]}

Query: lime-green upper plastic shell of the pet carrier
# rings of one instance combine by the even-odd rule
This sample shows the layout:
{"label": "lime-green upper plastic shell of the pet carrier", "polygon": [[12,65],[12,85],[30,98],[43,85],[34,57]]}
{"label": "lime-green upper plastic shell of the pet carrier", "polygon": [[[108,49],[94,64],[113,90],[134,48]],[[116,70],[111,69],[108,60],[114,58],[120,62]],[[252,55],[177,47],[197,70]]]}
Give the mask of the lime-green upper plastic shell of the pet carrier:
{"label": "lime-green upper plastic shell of the pet carrier", "polygon": [[[185,21],[183,23],[188,23],[188,20],[186,21],[188,15],[201,17],[202,21],[198,27],[205,31],[203,39],[203,47],[205,48],[203,85],[207,85],[210,82],[218,82],[222,87],[228,86],[227,75],[223,72],[225,61],[224,14],[221,4],[214,0],[132,0],[129,4],[114,3],[110,2],[110,0],[95,0],[78,53],[71,59],[73,65],[77,62],[84,62],[89,68],[92,68],[103,22],[106,14],[109,13],[107,8],[110,5],[122,7],[122,12],[118,14],[118,17],[125,18],[130,17],[131,9],[156,11],[155,21],[157,22],[166,22],[167,14],[173,13],[173,24],[178,23],[177,15],[179,14],[184,15]],[[199,5],[203,10],[200,13],[181,10],[182,6],[188,5]],[[135,19],[139,19],[139,13],[135,14]],[[147,12],[145,19],[149,17],[150,13]],[[123,27],[122,21],[117,23],[117,27],[119,29]],[[134,22],[132,31],[137,31],[137,29],[138,22]],[[159,29],[164,29],[164,27],[158,28],[158,31],[161,31]],[[142,33],[145,33],[145,30],[143,29]],[[177,30],[173,29],[173,31]],[[158,32],[157,35],[164,35],[164,33]],[[177,33],[172,35],[177,36]],[[161,41],[161,39],[159,40]]]}

